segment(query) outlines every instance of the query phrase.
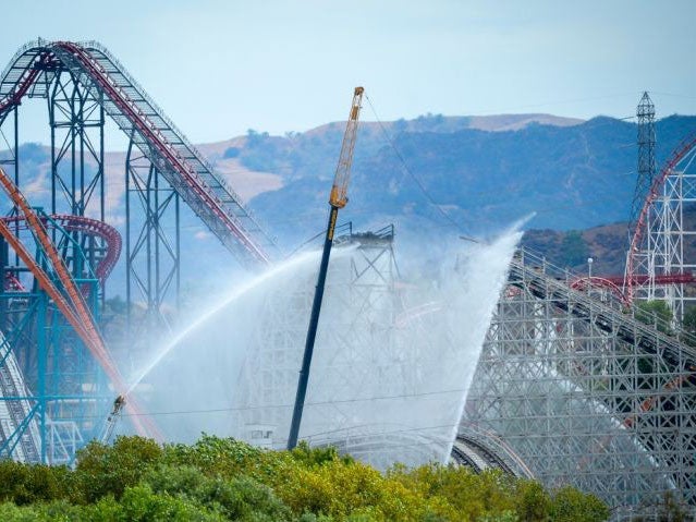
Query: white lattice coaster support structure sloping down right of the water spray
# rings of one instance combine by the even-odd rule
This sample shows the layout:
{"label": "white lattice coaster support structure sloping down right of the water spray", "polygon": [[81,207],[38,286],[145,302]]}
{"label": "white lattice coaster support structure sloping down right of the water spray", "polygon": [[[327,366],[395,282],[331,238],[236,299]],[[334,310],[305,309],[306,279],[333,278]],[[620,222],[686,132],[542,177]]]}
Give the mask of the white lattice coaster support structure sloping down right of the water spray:
{"label": "white lattice coaster support structure sloping down right of the water spray", "polygon": [[520,251],[462,426],[500,436],[547,487],[594,493],[613,512],[696,503],[696,340],[646,325],[606,288]]}

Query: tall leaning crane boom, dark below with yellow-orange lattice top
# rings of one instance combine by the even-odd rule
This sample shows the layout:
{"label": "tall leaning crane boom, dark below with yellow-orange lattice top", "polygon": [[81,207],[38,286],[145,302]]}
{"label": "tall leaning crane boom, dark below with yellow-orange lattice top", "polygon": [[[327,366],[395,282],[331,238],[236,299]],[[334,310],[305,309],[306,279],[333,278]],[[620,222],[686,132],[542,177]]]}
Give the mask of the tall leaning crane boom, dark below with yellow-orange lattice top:
{"label": "tall leaning crane boom, dark below with yellow-orange lattice top", "polygon": [[363,102],[363,87],[355,87],[353,92],[353,102],[351,104],[351,112],[345,125],[343,134],[343,144],[341,145],[341,156],[339,165],[335,168],[333,177],[333,185],[329,195],[329,224],[327,227],[326,239],[323,241],[323,252],[321,254],[321,263],[319,265],[319,277],[317,279],[317,289],[312,303],[312,314],[309,315],[309,328],[307,329],[307,339],[305,341],[305,351],[302,359],[302,368],[297,380],[297,394],[295,396],[295,408],[292,413],[292,422],[290,424],[290,436],[288,437],[288,449],[291,450],[297,446],[297,436],[300,435],[300,424],[302,422],[302,412],[305,406],[305,397],[307,394],[307,383],[309,380],[309,366],[312,365],[312,354],[314,353],[314,341],[317,337],[317,326],[319,325],[319,313],[321,312],[321,301],[323,299],[323,287],[327,280],[327,269],[329,267],[329,257],[331,255],[331,246],[333,245],[333,232],[335,230],[335,221],[339,217],[339,209],[347,204],[347,185],[351,180],[351,167],[353,166],[353,151],[355,150],[355,139],[357,137],[357,119],[361,113]]}

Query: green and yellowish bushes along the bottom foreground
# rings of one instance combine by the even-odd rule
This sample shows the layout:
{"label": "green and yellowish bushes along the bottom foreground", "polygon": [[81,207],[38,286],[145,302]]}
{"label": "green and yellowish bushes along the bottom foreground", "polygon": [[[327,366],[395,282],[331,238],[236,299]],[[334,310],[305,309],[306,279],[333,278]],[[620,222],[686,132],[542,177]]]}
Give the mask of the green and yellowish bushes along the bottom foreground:
{"label": "green and yellowish bushes along the bottom foreground", "polygon": [[0,461],[2,521],[594,522],[599,499],[465,468],[382,474],[332,449],[265,451],[204,435],[163,448],[90,442],[75,470]]}

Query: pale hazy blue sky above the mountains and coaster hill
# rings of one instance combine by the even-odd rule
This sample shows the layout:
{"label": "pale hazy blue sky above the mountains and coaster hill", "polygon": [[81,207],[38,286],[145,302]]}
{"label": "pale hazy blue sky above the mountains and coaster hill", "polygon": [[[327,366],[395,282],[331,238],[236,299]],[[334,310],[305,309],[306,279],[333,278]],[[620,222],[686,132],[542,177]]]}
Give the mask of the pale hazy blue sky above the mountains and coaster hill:
{"label": "pale hazy blue sky above the mountains and coaster hill", "polygon": [[627,117],[645,89],[696,113],[696,0],[5,3],[2,66],[38,36],[97,39],[195,143],[343,120],[355,85],[382,120]]}

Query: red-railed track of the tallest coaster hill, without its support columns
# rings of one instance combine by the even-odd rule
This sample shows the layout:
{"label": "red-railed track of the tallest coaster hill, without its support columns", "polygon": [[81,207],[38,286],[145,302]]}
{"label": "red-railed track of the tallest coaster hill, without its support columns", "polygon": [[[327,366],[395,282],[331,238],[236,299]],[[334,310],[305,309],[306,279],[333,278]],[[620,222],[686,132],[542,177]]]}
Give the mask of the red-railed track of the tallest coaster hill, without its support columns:
{"label": "red-railed track of the tallest coaster hill, without its support columns", "polygon": [[25,96],[46,96],[57,72],[64,70],[100,100],[106,113],[243,265],[270,264],[276,245],[241,198],[101,45],[38,40],[21,48],[0,78],[0,122]]}

